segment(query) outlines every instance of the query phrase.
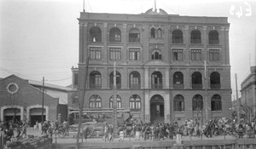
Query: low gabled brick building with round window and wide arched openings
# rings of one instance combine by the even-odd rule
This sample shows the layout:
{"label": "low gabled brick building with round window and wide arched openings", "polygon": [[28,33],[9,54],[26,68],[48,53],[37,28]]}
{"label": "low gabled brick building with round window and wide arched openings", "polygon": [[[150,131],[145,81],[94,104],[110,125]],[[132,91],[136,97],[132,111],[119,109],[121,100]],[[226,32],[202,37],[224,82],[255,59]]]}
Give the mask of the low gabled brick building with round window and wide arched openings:
{"label": "low gabled brick building with round window and wide arched openings", "polygon": [[[26,120],[33,126],[42,121],[43,83],[15,75],[0,80],[0,116],[2,121]],[[44,120],[67,120],[67,98],[74,89],[44,83]]]}

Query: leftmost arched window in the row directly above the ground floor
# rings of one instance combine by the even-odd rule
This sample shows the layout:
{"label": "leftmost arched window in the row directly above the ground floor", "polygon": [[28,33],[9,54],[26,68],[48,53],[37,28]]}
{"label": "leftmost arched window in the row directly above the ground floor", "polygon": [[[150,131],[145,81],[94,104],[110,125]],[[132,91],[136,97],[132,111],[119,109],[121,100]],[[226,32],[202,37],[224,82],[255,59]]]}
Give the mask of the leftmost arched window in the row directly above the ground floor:
{"label": "leftmost arched window in the row directly above the ground floor", "polygon": [[102,75],[100,72],[90,72],[90,89],[102,89]]}

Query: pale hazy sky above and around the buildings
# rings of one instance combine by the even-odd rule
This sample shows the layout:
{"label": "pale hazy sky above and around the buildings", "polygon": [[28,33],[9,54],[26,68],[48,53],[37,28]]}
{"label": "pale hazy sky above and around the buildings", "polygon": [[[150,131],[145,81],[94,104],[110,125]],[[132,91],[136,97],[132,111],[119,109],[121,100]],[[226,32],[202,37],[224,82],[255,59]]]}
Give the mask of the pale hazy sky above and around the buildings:
{"label": "pale hazy sky above and around the buildings", "polygon": [[[79,13],[141,14],[154,0],[0,0],[0,77],[67,86],[79,63]],[[228,17],[231,88],[256,66],[256,0],[156,0],[168,14]],[[239,97],[240,97],[239,92]],[[232,98],[236,98],[232,96]]]}

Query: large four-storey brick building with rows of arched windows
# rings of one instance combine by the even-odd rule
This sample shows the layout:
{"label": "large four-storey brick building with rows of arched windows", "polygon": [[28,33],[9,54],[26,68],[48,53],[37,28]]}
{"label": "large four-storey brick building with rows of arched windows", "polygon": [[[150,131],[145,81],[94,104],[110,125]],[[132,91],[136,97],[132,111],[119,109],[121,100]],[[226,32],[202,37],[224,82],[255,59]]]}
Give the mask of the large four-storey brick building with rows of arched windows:
{"label": "large four-storey brick building with rows of arched windows", "polygon": [[134,119],[182,123],[231,117],[229,28],[226,17],[180,16],[162,9],[82,12],[73,86],[82,100],[89,57],[84,107],[112,108],[116,62],[117,106],[130,110]]}

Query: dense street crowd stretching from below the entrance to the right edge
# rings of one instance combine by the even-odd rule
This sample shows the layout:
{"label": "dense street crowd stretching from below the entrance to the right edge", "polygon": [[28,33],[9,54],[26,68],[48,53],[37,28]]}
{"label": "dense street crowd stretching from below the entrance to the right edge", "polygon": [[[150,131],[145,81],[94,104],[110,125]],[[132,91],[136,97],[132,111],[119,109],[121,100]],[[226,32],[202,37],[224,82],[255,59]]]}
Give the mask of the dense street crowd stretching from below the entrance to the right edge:
{"label": "dense street crowd stretching from below the entrance to the right edge", "polygon": [[[103,140],[113,141],[113,126],[106,125],[103,128]],[[172,140],[176,135],[192,137],[213,137],[216,135],[233,135],[237,138],[254,138],[256,125],[254,121],[246,122],[241,118],[240,123],[236,119],[215,118],[201,124],[197,119],[187,119],[183,124],[173,123],[133,123],[129,130],[125,126],[119,126],[119,141],[123,141],[125,135],[134,137],[135,140]]]}

